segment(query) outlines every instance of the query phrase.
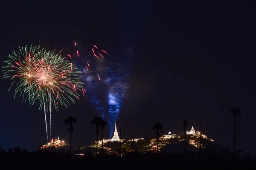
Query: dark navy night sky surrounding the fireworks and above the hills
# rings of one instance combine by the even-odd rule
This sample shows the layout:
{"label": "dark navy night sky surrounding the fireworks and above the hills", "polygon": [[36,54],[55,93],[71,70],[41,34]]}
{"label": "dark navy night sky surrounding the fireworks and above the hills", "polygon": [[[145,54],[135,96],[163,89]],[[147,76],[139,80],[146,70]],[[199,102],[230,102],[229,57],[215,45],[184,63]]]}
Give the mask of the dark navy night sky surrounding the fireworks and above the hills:
{"label": "dark navy night sky surrounding the fireworks and above the hills", "polygon": [[[164,4],[160,1],[64,1],[56,3],[2,4],[1,65],[19,46],[67,48],[75,40],[84,50],[92,45],[113,56],[134,51],[130,89],[117,119],[122,137],[152,137],[156,122],[164,130],[199,130],[223,146],[233,146],[233,107],[239,107],[237,148],[256,155],[255,7],[251,4]],[[204,6],[204,7],[203,7]],[[3,74],[1,73],[1,77]],[[46,143],[44,112],[8,91],[0,79],[0,144],[35,150]],[[67,140],[63,120],[78,119],[73,144],[95,141],[90,120],[99,113],[89,102],[76,102],[53,112],[53,137]],[[108,137],[106,130],[105,137]]]}

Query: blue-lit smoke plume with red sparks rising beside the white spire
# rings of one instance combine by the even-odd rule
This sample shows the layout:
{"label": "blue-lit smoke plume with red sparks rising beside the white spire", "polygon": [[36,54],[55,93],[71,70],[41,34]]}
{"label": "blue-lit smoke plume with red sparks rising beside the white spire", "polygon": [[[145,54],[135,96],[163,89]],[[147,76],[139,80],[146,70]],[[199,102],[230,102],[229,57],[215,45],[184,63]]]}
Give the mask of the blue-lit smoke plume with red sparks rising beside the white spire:
{"label": "blue-lit smoke plume with red sparks rising beside the white spire", "polygon": [[[108,122],[109,136],[113,134],[114,125],[119,114],[122,99],[128,89],[129,71],[120,62],[109,61],[108,53],[93,45],[92,53],[85,54],[79,50],[78,43],[74,43],[75,49],[67,58],[76,62],[83,71],[81,79],[84,80],[85,94],[91,104],[96,108],[102,119]],[[92,57],[87,57],[92,56]]]}

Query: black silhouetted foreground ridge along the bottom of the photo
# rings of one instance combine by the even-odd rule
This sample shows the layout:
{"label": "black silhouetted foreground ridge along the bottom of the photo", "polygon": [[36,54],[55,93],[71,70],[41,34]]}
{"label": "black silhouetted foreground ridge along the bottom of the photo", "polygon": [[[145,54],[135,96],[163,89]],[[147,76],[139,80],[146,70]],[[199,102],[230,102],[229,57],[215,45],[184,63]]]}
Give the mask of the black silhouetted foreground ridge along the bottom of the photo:
{"label": "black silhouetted foreground ridge along the bottom of the photo", "polygon": [[212,170],[220,167],[229,169],[254,169],[256,161],[249,155],[238,156],[230,153],[216,155],[214,153],[163,154],[163,153],[129,153],[123,156],[70,155],[64,152],[33,151],[27,152],[16,147],[13,150],[0,151],[1,169],[3,168],[58,168],[58,170],[74,168],[114,168],[114,169],[204,169]]}

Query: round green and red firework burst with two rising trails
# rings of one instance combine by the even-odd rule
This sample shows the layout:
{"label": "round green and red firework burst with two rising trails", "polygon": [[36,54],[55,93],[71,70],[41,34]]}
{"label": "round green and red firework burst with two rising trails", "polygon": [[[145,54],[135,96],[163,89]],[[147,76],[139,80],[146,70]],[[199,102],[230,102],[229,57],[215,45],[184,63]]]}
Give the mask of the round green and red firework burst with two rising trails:
{"label": "round green and red firework burst with two rising trails", "polygon": [[20,93],[23,101],[31,105],[40,101],[39,110],[44,105],[45,114],[46,110],[52,113],[52,105],[58,111],[58,104],[67,107],[70,102],[75,102],[73,98],[80,96],[77,91],[81,91],[83,85],[79,82],[81,71],[55,51],[47,51],[40,46],[20,48],[18,53],[9,55],[5,63],[2,66],[3,78],[13,81],[11,88],[16,87],[15,96]]}

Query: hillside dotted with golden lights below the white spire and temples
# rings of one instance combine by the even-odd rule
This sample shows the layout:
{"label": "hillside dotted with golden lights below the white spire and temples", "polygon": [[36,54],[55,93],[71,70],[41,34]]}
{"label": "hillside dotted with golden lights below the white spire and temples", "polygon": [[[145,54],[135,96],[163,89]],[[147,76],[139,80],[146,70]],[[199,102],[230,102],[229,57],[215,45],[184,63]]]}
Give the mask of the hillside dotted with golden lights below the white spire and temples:
{"label": "hillside dotted with golden lights below the white spire and temples", "polygon": [[[202,148],[206,147],[213,148],[214,150],[224,150],[224,147],[221,147],[218,144],[215,144],[214,140],[207,137],[206,135],[200,135],[200,132],[195,132],[192,129],[186,132],[187,140],[187,150],[189,152],[197,152],[200,148],[200,137],[202,137]],[[119,153],[119,141],[113,141],[111,139],[103,140],[104,152],[108,154],[118,154]],[[121,139],[121,148],[122,153],[132,152],[133,139]],[[156,139],[134,139],[134,150],[140,153],[154,152],[157,147]],[[167,135],[160,136],[159,139],[159,151],[163,153],[182,153],[184,152],[184,133],[168,133]],[[90,146],[81,147],[81,151],[95,151],[96,142]],[[221,148],[221,149],[220,149]],[[102,152],[102,141],[98,142],[98,152]]]}

